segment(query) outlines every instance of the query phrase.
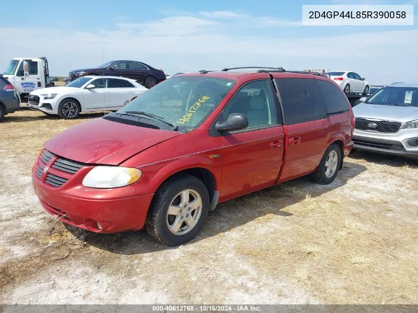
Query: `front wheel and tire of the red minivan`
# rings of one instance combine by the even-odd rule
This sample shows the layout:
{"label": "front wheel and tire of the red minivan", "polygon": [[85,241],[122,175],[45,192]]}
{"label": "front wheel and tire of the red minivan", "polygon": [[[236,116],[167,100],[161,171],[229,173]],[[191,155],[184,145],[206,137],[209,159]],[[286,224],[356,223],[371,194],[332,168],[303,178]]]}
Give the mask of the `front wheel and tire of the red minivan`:
{"label": "front wheel and tire of the red minivan", "polygon": [[[187,196],[186,201],[182,199],[184,196]],[[198,206],[188,210],[189,201],[197,201]],[[183,202],[186,203],[182,205]],[[151,237],[167,246],[186,243],[199,233],[205,223],[209,202],[208,190],[200,179],[190,175],[168,179],[154,195],[145,222],[146,229]],[[173,213],[178,209],[178,213],[169,214],[169,207],[174,208]],[[190,221],[190,217],[197,219],[193,226],[186,222]]]}

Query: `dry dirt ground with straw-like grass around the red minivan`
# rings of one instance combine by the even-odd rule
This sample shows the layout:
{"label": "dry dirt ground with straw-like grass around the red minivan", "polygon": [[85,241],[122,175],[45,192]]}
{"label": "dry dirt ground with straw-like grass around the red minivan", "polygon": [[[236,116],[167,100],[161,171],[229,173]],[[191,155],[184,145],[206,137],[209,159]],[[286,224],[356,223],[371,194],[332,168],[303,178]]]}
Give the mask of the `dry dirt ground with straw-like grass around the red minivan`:
{"label": "dry dirt ground with straw-like grass around the red minivan", "polygon": [[74,236],[31,169],[78,123],[22,110],[0,124],[0,303],[418,304],[418,162],[355,151],[330,185],[297,179],[219,205],[192,242]]}

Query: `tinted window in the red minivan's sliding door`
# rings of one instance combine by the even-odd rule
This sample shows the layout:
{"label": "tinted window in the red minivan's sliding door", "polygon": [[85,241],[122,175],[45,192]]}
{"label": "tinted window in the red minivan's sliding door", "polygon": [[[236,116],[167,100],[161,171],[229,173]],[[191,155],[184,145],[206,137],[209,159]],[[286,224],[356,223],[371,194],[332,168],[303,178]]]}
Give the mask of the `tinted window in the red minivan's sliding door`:
{"label": "tinted window in the red minivan's sliding door", "polygon": [[326,117],[325,105],[316,79],[275,79],[284,115],[284,124],[292,125]]}

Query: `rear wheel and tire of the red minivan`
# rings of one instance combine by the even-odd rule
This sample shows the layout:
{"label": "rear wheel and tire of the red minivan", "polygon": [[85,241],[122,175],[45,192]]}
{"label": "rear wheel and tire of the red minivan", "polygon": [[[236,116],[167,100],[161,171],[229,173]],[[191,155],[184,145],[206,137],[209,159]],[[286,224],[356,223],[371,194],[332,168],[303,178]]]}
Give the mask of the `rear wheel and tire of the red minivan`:
{"label": "rear wheel and tire of the red minivan", "polygon": [[[329,158],[336,158],[332,163],[329,164]],[[324,156],[321,159],[321,162],[318,166],[318,169],[312,173],[312,178],[314,181],[327,185],[334,181],[335,177],[338,174],[339,166],[341,162],[341,150],[336,143],[332,143],[325,151]],[[327,163],[329,166],[327,166]],[[328,172],[330,169],[330,172]],[[328,173],[328,174],[327,174]],[[331,175],[332,174],[332,175]]]}

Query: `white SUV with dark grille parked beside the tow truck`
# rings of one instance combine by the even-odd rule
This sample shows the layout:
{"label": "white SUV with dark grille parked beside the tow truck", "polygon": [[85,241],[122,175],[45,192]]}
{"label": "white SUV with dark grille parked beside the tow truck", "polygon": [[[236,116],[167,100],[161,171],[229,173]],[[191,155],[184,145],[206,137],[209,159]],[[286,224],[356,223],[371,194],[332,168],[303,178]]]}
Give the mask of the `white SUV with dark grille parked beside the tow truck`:
{"label": "white SUV with dark grille parked beside the tow truck", "polygon": [[36,89],[28,106],[62,119],[76,119],[80,112],[116,111],[145,87],[135,80],[114,76],[83,76],[63,87]]}

